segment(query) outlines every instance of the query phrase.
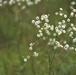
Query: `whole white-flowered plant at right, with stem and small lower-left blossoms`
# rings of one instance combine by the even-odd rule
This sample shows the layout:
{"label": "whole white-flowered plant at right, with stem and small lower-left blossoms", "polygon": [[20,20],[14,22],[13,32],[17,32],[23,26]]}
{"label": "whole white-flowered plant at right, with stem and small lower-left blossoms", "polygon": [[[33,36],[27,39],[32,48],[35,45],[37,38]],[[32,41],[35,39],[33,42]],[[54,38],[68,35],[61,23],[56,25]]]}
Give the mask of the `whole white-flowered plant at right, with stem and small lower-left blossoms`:
{"label": "whole white-flowered plant at right, with stem and small lower-left blossoms", "polygon": [[[60,18],[55,25],[50,24],[50,14],[36,16],[36,19],[32,20],[32,24],[34,24],[37,28],[36,36],[41,39],[42,42],[47,41],[45,46],[50,47],[50,49],[47,50],[49,75],[51,75],[51,51],[58,49],[65,51],[76,51],[75,4],[76,2],[71,2],[71,12],[69,14],[65,13],[63,8],[59,8],[59,11],[55,12],[55,16]],[[39,53],[37,52],[37,49],[33,50],[34,45],[36,46],[36,43],[30,43],[29,50],[33,52],[33,57],[37,57]],[[24,58],[24,61],[27,61],[27,57]]]}

